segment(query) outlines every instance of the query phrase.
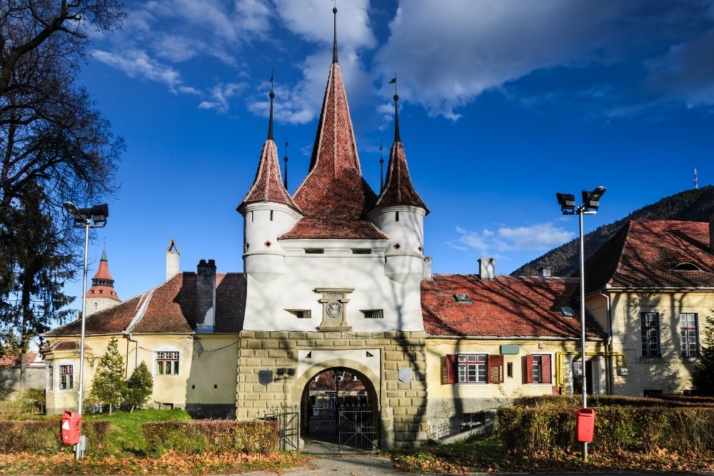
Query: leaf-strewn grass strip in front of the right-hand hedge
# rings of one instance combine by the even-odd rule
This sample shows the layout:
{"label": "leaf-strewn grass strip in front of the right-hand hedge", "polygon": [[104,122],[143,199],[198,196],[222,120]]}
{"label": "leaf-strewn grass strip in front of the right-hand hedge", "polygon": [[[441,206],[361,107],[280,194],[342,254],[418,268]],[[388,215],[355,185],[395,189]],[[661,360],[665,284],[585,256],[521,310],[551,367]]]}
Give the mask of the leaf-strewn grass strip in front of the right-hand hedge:
{"label": "leaf-strewn grass strip in front of the right-hand hedge", "polygon": [[591,471],[714,471],[714,452],[687,455],[668,450],[653,453],[591,452],[587,463],[579,453],[511,454],[498,436],[478,437],[451,445],[424,445],[390,453],[396,467],[411,472],[591,472]]}

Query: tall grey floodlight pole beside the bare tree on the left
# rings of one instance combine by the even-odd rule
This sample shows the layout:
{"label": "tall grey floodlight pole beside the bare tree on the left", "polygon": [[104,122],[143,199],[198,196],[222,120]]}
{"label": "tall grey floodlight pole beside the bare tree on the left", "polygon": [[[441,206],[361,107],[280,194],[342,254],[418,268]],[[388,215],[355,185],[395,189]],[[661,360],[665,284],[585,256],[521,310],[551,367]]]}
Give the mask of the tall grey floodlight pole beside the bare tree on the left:
{"label": "tall grey floodlight pole beside the bare tree on the left", "polygon": [[[79,388],[77,389],[77,412],[82,414],[84,399],[84,323],[86,318],[87,255],[89,253],[89,228],[104,228],[109,216],[109,206],[104,203],[92,208],[77,208],[72,202],[64,202],[64,209],[74,216],[74,228],[84,228],[84,275],[82,278],[82,324],[79,340]],[[94,223],[93,223],[94,222]],[[81,420],[79,431],[81,434]],[[81,457],[81,441],[74,445],[74,459]]]}

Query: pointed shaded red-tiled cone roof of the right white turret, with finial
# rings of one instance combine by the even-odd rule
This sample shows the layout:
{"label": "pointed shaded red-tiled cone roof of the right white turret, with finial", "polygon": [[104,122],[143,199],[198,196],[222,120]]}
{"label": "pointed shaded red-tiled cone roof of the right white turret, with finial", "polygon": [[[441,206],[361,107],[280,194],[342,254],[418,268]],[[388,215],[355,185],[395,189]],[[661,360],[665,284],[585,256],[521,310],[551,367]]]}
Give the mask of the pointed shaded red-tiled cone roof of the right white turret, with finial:
{"label": "pointed shaded red-tiled cone roof of the right white turret, with finial", "polygon": [[398,111],[399,96],[394,95],[394,143],[389,152],[389,163],[387,164],[387,180],[382,188],[373,207],[390,206],[390,205],[411,205],[423,208],[426,213],[429,209],[426,208],[423,200],[416,193],[416,189],[411,183],[409,176],[409,168],[406,164],[406,152],[404,144],[399,136],[399,111]]}

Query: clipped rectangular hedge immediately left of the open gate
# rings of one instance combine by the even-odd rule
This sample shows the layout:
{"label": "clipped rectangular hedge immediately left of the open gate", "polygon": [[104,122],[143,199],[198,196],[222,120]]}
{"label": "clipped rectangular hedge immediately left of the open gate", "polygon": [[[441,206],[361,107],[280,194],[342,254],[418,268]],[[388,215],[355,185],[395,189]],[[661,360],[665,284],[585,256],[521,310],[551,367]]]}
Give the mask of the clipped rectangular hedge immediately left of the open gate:
{"label": "clipped rectangular hedge immediately left of the open gate", "polygon": [[141,432],[154,455],[168,450],[182,455],[206,451],[268,453],[278,443],[278,423],[265,421],[150,422],[141,425]]}

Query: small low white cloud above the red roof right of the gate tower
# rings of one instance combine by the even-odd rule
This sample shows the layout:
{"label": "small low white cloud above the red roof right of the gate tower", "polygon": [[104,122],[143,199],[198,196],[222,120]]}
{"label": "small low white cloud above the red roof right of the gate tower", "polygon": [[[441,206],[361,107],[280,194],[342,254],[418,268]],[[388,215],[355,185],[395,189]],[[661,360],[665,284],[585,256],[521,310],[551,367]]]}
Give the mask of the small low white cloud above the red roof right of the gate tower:
{"label": "small low white cloud above the red roof right of the gate tower", "polygon": [[482,231],[469,231],[456,227],[458,238],[450,242],[452,248],[478,250],[480,253],[549,250],[557,245],[572,240],[575,234],[553,223],[536,223],[532,226],[515,228],[501,227],[496,231],[484,228]]}

